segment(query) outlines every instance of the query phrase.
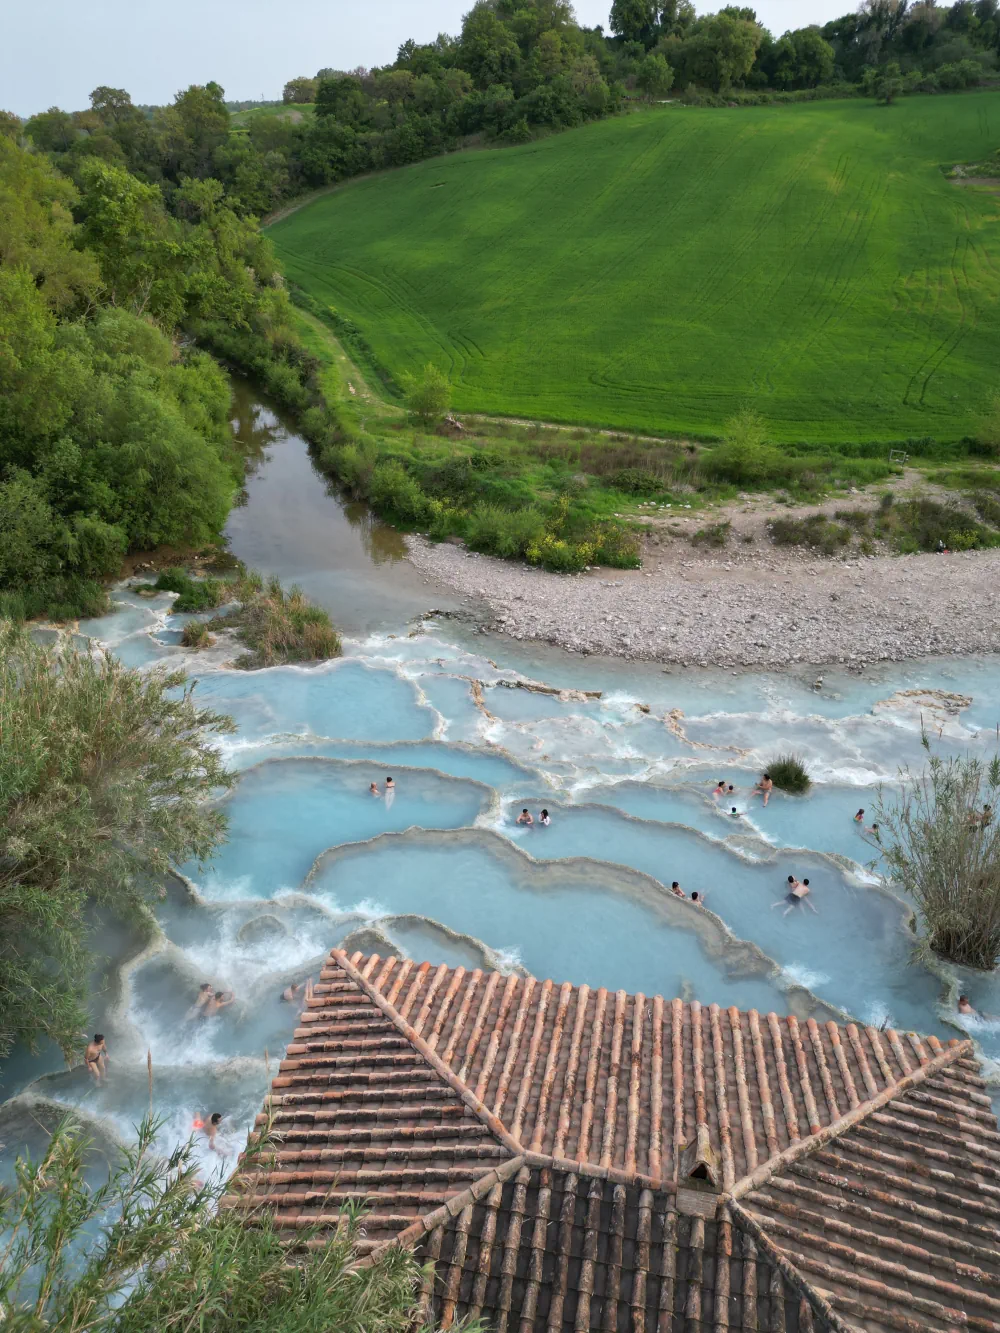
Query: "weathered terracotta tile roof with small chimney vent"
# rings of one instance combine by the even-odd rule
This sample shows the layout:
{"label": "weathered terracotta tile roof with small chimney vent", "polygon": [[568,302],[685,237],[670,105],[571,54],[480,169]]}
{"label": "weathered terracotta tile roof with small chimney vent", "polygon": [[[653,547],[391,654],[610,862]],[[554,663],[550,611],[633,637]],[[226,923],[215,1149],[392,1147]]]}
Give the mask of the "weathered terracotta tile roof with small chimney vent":
{"label": "weathered terracotta tile roof with small chimney vent", "polygon": [[335,950],[268,1110],[244,1189],[293,1244],[364,1200],[445,1326],[1000,1330],[968,1041]]}

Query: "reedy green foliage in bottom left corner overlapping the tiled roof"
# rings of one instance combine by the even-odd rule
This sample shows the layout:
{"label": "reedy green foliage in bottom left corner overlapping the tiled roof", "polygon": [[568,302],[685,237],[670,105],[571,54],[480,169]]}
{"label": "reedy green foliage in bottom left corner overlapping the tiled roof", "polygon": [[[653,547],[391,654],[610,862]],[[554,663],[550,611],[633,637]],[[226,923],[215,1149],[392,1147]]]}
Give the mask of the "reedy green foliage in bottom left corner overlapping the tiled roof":
{"label": "reedy green foliage in bottom left corner overlapping the tiled roof", "polygon": [[[432,1333],[412,1252],[356,1262],[363,1212],[344,1212],[325,1236],[303,1233],[308,1262],[289,1264],[271,1213],[236,1196],[220,1206],[227,1186],[201,1182],[193,1145],[164,1156],[156,1130],[139,1125],[99,1188],[71,1121],[39,1161],[19,1158],[0,1196],[0,1318],[11,1333]],[[267,1170],[271,1154],[257,1141],[243,1170]]]}

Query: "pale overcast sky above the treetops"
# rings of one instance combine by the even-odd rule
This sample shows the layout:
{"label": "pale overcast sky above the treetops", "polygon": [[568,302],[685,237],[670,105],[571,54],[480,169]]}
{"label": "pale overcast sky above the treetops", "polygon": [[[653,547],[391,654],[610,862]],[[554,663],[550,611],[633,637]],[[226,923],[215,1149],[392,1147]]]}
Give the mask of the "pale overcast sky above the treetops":
{"label": "pale overcast sky above the treetops", "polygon": [[[699,12],[725,0],[697,0]],[[744,0],[753,3],[753,0]],[[401,41],[457,32],[472,0],[12,0],[0,39],[0,109],[31,116],[87,105],[92,88],[164,103],[215,79],[232,101],[281,96],[324,65],[387,64]],[[580,23],[607,24],[611,0],[576,0]],[[825,23],[852,0],[759,0],[775,33]]]}

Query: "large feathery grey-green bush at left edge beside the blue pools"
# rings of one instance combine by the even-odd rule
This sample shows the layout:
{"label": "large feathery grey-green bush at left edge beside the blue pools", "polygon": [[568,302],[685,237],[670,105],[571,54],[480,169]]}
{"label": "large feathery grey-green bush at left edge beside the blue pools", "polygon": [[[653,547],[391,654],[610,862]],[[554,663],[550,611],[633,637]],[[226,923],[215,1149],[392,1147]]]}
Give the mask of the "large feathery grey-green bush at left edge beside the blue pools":
{"label": "large feathery grey-green bush at left edge beside the blue pools", "polygon": [[207,797],[235,781],[215,744],[232,730],[183,673],[57,655],[0,621],[0,1056],[43,1036],[79,1050],[85,909],[137,917],[219,845]]}

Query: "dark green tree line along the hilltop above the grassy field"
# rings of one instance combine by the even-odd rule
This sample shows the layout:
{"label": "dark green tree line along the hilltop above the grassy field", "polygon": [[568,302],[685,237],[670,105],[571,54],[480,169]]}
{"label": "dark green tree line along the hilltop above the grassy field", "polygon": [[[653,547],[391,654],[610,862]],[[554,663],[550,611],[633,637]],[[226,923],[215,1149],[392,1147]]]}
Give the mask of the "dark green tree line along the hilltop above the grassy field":
{"label": "dark green tree line along the hilltop above the grassy field", "polygon": [[605,33],[581,27],[568,0],[479,0],[457,36],[404,41],[385,67],[289,79],[284,101],[308,108],[299,117],[241,124],[232,109],[252,104],[227,105],[215,83],[159,108],[99,88],[89,108],[53,107],[17,132],[71,179],[99,157],[159,187],[171,212],[184,179],[212,179],[237,216],[261,216],[305,189],[476,140],[525,141],[635,100],[881,95],[887,77],[893,93],[979,84],[1000,57],[997,4],[864,0],[776,37],[737,5],[699,16],[691,0],[613,0]]}

